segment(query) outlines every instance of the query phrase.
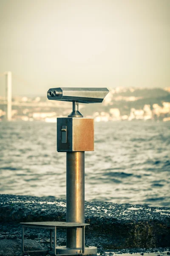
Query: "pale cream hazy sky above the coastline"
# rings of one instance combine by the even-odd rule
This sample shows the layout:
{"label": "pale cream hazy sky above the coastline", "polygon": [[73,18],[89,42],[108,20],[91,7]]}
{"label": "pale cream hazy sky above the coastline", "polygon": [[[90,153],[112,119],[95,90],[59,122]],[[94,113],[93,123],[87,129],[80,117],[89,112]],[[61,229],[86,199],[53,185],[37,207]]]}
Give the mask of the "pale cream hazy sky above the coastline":
{"label": "pale cream hazy sky above the coastline", "polygon": [[170,86],[170,0],[0,0],[4,71],[13,95]]}

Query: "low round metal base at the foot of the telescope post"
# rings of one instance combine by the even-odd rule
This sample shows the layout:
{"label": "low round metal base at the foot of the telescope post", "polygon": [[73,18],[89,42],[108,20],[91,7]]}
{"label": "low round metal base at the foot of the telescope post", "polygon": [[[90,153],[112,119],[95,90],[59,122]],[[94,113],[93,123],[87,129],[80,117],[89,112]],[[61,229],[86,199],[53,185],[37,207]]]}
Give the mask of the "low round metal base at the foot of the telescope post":
{"label": "low round metal base at the foot of the telescope post", "polygon": [[[77,255],[77,254],[82,254],[80,253],[82,250],[81,248],[79,249],[73,249],[73,248],[68,248],[66,246],[57,246],[56,247],[56,255],[69,255],[69,254],[72,254],[72,255]],[[85,246],[85,252],[83,255],[93,255],[93,254],[96,254],[97,253],[97,247],[94,247],[94,246],[89,246],[89,247],[86,247]]]}

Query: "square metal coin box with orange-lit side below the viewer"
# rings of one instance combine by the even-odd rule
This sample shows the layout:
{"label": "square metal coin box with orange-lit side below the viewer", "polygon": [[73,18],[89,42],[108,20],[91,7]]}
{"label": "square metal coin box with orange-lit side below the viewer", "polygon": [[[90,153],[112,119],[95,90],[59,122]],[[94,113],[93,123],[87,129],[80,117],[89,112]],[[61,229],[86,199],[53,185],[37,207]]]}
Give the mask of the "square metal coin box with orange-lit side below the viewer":
{"label": "square metal coin box with orange-lit side below the viewer", "polygon": [[57,118],[57,151],[94,151],[94,118]]}

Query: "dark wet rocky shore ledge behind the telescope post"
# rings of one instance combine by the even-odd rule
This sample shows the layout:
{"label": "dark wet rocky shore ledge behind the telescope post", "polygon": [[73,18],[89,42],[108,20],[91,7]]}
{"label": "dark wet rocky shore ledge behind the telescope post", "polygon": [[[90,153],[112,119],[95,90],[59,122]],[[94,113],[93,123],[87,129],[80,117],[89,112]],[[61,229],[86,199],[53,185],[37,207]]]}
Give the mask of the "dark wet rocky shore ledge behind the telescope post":
{"label": "dark wet rocky shore ledge behind the telescope post", "polygon": [[[23,255],[19,223],[26,221],[66,221],[65,200],[0,195],[0,256]],[[85,222],[90,224],[86,227],[85,244],[98,247],[101,254],[105,250],[170,247],[170,208],[86,201]],[[47,230],[26,230],[26,246],[48,247],[48,233]],[[4,248],[9,249],[9,241],[14,250],[7,253]],[[63,230],[57,232],[57,245],[65,245]]]}

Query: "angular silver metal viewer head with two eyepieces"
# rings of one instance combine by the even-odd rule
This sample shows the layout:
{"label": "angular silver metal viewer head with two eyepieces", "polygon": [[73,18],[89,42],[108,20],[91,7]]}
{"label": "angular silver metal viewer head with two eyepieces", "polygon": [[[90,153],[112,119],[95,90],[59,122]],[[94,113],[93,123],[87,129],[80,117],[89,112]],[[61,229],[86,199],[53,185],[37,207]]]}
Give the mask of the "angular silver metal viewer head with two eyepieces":
{"label": "angular silver metal viewer head with two eyepieces", "polygon": [[51,88],[47,92],[48,99],[60,101],[78,101],[81,103],[102,102],[108,94],[107,88]]}

